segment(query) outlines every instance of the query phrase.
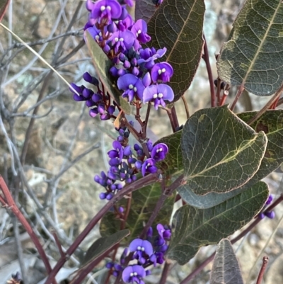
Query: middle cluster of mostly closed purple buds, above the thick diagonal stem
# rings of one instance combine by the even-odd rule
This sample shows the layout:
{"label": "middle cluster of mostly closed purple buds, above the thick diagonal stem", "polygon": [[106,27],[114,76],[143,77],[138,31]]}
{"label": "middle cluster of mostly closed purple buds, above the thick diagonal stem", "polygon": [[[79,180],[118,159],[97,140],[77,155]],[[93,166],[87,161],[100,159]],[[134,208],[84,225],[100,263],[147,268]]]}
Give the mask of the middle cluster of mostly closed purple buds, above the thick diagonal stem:
{"label": "middle cluster of mostly closed purple buds, above the thick diagonal stem", "polygon": [[[134,144],[133,155],[132,148],[129,146],[129,130],[127,127],[120,127],[117,130],[119,136],[112,143],[112,150],[108,152],[110,169],[107,174],[101,171],[100,176],[96,175],[94,181],[103,186],[106,192],[100,193],[100,199],[111,200],[113,195],[122,189],[122,183],[132,183],[137,180],[137,173],[142,176],[154,174],[157,171],[156,162],[165,159],[168,153],[168,147],[164,143],[158,143],[153,146],[151,141],[146,142],[146,149],[150,157],[146,154],[139,144]],[[135,157],[134,157],[135,156]]]}

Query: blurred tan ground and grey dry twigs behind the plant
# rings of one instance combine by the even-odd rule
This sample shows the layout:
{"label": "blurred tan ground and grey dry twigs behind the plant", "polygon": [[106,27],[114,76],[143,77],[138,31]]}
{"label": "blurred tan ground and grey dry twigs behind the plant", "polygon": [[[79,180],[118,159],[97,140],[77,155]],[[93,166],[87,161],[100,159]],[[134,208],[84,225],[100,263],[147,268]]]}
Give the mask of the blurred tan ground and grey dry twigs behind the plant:
{"label": "blurred tan ground and grey dry twigs behind the plant", "polygon": [[[228,37],[242,2],[205,1],[204,34],[215,79],[215,55]],[[83,44],[83,25],[87,17],[84,1],[11,0],[2,23],[52,64],[64,79],[80,85],[85,84],[84,72],[95,74]],[[64,248],[69,247],[105,203],[98,198],[101,188],[93,181],[93,176],[108,169],[107,152],[116,134],[111,121],[91,118],[84,103],[72,99],[67,84],[4,28],[0,28],[0,38],[0,174],[25,217],[35,227],[54,265],[59,252],[52,230]],[[231,89],[227,103],[233,101],[235,92]],[[190,114],[210,106],[204,61],[200,62],[185,97]],[[243,93],[235,111],[258,110],[268,100]],[[176,103],[176,110],[182,125],[186,115],[181,100]],[[154,139],[171,134],[163,110],[151,112],[149,127]],[[275,197],[282,192],[281,180],[281,170],[265,178]],[[262,256],[270,257],[265,283],[283,283],[283,227],[280,223],[283,206],[279,205],[275,212],[274,220],[263,220],[234,245],[245,283],[255,283]],[[68,283],[68,277],[80,265],[83,251],[98,237],[96,227],[83,241],[81,251],[60,271],[59,282]],[[214,246],[204,247],[186,266],[173,266],[167,283],[179,283],[214,249]],[[25,284],[44,283],[45,267],[33,242],[15,217],[0,208],[0,283],[6,283],[12,273],[21,271],[20,264],[25,271]],[[104,265],[100,263],[100,269],[93,271],[85,283],[103,283]],[[210,268],[207,266],[191,283],[209,283]],[[146,278],[146,283],[158,283],[160,273],[161,268],[156,268]]]}

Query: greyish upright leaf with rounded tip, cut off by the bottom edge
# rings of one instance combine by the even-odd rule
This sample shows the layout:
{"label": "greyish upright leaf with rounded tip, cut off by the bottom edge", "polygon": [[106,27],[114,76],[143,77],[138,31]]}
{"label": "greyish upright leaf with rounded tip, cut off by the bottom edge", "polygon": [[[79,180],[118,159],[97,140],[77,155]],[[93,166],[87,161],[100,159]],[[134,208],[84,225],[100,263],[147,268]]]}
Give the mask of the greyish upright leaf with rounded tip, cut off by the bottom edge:
{"label": "greyish upright leaf with rounded tip, cut off by the bottom edge", "polygon": [[240,266],[229,239],[222,239],[217,246],[210,284],[243,284]]}

